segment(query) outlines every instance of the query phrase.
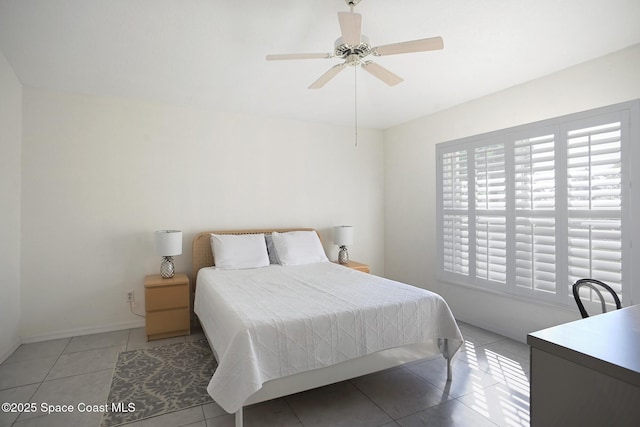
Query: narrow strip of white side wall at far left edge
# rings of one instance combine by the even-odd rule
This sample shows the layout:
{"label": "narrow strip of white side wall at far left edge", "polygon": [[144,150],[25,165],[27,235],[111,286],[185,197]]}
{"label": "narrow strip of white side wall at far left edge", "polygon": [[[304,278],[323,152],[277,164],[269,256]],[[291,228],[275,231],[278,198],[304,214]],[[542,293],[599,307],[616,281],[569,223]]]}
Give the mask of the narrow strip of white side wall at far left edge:
{"label": "narrow strip of white side wall at far left edge", "polygon": [[20,344],[22,85],[0,52],[0,362]]}

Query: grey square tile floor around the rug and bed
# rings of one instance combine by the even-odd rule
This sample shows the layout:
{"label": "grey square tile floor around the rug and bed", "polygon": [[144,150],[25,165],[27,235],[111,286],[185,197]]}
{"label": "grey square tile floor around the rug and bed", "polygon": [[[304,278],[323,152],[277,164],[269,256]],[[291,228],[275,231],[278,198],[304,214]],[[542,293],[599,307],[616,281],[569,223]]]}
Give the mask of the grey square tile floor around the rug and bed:
{"label": "grey square tile floor around the rug and bed", "polygon": [[[460,323],[466,344],[446,381],[437,357],[245,408],[255,426],[528,426],[529,347]],[[190,337],[146,342],[144,329],[20,346],[0,364],[0,403],[104,403],[117,354]],[[100,413],[0,412],[0,427],[91,426]],[[234,418],[210,403],[131,427],[226,427]]]}

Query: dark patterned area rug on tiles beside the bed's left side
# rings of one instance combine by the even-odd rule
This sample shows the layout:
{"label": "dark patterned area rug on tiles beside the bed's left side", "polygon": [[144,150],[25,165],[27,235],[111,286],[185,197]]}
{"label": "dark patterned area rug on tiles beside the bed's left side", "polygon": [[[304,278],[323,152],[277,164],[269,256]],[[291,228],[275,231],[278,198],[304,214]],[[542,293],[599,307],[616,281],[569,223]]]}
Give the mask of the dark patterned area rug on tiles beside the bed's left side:
{"label": "dark patterned area rug on tiles beside the bed's left side", "polygon": [[102,427],[113,427],[211,402],[216,361],[206,340],[118,355]]}

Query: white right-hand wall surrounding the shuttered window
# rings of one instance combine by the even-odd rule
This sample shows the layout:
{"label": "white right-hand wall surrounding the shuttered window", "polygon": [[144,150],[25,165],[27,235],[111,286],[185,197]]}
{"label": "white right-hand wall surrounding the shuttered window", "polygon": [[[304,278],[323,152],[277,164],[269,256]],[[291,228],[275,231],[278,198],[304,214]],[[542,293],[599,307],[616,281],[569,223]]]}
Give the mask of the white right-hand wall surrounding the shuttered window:
{"label": "white right-hand wall surrounding the shuttered window", "polygon": [[[577,319],[575,307],[529,303],[436,280],[435,145],[640,98],[639,76],[640,45],[635,45],[385,131],[386,275],[433,289],[459,319],[521,341],[528,332]],[[637,153],[640,141],[634,143]],[[631,164],[640,164],[640,157]],[[635,186],[636,213],[639,196]],[[634,283],[640,286],[638,278]],[[637,304],[639,289],[634,292]]]}

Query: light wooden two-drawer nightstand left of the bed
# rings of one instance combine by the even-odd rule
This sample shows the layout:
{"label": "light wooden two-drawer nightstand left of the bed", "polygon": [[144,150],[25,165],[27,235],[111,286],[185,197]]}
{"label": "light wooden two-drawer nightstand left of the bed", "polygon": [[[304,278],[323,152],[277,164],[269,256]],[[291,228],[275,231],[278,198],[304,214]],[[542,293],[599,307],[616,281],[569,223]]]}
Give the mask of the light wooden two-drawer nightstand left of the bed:
{"label": "light wooden two-drawer nightstand left of the bed", "polygon": [[176,274],[163,279],[145,276],[144,298],[147,340],[191,334],[189,278]]}

